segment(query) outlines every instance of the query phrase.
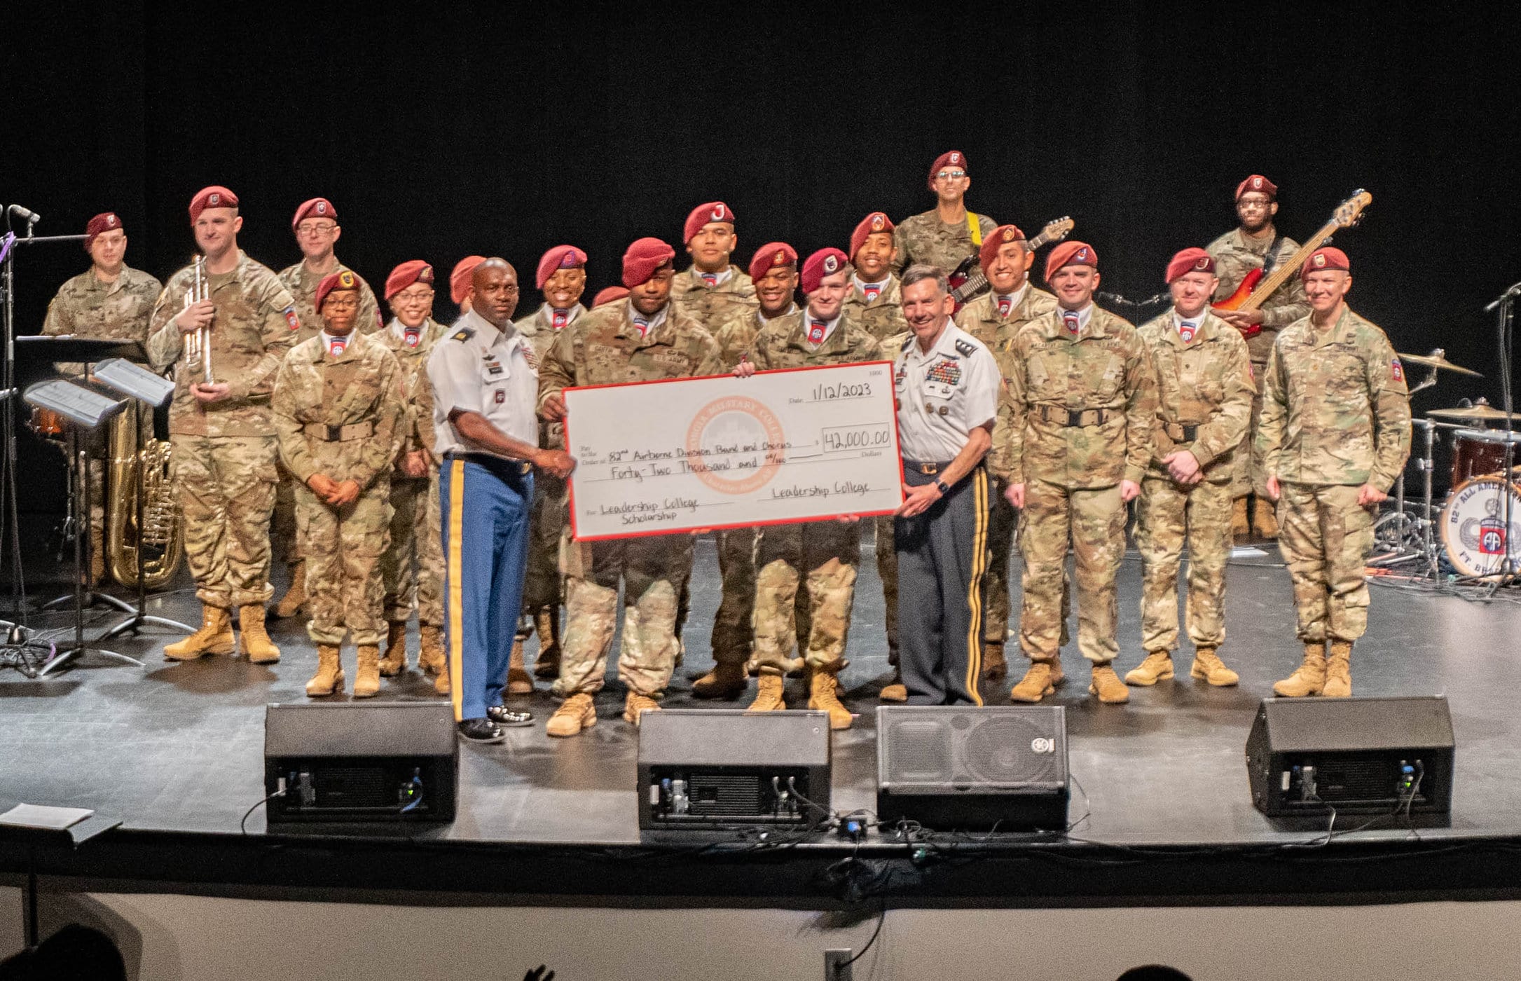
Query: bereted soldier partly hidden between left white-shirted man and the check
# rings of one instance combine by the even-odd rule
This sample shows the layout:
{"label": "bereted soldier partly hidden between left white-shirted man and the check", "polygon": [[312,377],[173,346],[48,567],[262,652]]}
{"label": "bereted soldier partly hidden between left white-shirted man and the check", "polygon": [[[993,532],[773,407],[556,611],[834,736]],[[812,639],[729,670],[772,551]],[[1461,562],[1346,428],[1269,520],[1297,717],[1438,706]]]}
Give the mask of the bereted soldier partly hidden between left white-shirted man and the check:
{"label": "bereted soldier partly hidden between left white-shirted man and the check", "polygon": [[[516,321],[543,362],[551,345],[566,327],[586,313],[581,294],[586,292],[586,252],[573,245],[557,245],[538,259],[534,281],[545,295],[545,304]],[[538,446],[564,449],[564,427],[560,423],[538,424]],[[528,572],[523,579],[523,616],[513,645],[506,672],[506,692],[525,695],[534,681],[523,666],[523,643],[538,631],[538,657],[534,674],[540,678],[560,677],[560,604],[564,589],[560,578],[560,538],[569,520],[569,482],[551,473],[534,479],[534,506],[529,519]]]}

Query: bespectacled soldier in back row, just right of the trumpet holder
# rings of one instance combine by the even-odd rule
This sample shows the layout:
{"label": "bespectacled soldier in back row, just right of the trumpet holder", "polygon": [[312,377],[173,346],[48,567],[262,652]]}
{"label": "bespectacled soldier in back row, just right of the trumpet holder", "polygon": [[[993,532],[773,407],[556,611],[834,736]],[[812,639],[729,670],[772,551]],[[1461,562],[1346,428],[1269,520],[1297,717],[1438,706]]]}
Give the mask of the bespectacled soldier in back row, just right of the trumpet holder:
{"label": "bespectacled soldier in back row, just right of the trumpet holder", "polygon": [[[280,281],[295,297],[295,312],[300,327],[294,329],[292,344],[301,344],[321,329],[322,318],[316,315],[312,298],[316,286],[324,277],[333,272],[348,271],[333,254],[333,245],[344,234],[338,224],[338,211],[327,198],[312,198],[303,201],[291,219],[291,231],[301,248],[304,259],[294,266],[280,271]],[[357,275],[357,274],[354,274]],[[380,304],[376,303],[374,290],[359,277],[359,319],[360,333],[379,330],[385,321],[380,318]],[[301,554],[295,540],[295,482],[289,473],[280,475],[280,485],[275,488],[275,517],[271,532],[271,544],[275,554],[291,570],[291,586],[284,596],[274,605],[272,613],[278,617],[295,616],[306,602],[306,567],[301,564]]]}

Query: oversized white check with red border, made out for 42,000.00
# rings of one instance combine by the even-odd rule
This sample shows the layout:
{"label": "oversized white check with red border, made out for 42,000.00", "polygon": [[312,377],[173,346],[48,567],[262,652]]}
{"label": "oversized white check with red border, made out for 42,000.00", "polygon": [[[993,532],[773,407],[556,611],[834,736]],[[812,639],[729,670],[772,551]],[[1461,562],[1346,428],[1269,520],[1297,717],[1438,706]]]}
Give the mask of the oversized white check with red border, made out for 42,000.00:
{"label": "oversized white check with red border, made out for 42,000.00", "polygon": [[893,364],[564,389],[578,541],[890,514]]}

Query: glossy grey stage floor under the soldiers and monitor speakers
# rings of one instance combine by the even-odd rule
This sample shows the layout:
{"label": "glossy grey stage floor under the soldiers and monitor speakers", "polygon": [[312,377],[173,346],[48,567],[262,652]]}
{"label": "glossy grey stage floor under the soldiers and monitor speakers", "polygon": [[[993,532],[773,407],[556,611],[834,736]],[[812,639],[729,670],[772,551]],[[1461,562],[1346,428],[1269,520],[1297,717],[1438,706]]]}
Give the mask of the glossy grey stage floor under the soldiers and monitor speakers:
{"label": "glossy grey stage floor under the soldiers and monitor speakers", "polygon": [[[1015,566],[1018,608],[1018,560]],[[277,570],[283,578],[283,570]],[[686,627],[686,665],[677,671],[666,706],[726,707],[691,695],[691,678],[710,665],[707,634],[718,604],[713,544],[698,543],[692,576],[692,619]],[[1135,666],[1138,646],[1139,561],[1135,551],[1121,570],[1121,672]],[[53,589],[32,584],[33,595]],[[1491,602],[1375,586],[1367,637],[1354,657],[1358,695],[1446,695],[1457,733],[1453,815],[1431,837],[1521,833],[1521,596]],[[189,589],[151,602],[152,613],[198,621]],[[905,616],[911,614],[905,610]],[[90,631],[120,619],[103,608],[90,614]],[[33,625],[67,627],[70,616],[35,616]],[[304,683],[316,652],[295,621],[271,621],[284,657],[254,666],[228,657],[175,665],[161,646],[178,634],[151,630],[113,642],[117,651],[148,662],[144,669],[90,659],[56,677],[27,680],[0,671],[0,805],[15,802],[93,808],[119,817],[126,829],[237,833],[239,818],[263,797],[263,707],[306,701]],[[1189,652],[1179,657],[1180,678],[1132,689],[1129,706],[1103,706],[1088,695],[1086,665],[1069,648],[1071,681],[1054,704],[1068,709],[1071,818],[1083,818],[1074,838],[1115,844],[1265,843],[1303,838],[1276,827],[1249,800],[1243,760],[1258,700],[1299,660],[1287,572],[1276,551],[1235,560],[1229,573],[1227,631],[1221,649],[1240,671],[1241,686],[1211,689],[1186,680]],[[71,636],[71,631],[68,631]],[[1075,633],[1075,625],[1074,625]],[[1010,652],[1015,654],[1010,645]],[[415,628],[412,636],[415,659]],[[532,648],[531,648],[532,649]],[[345,649],[351,663],[351,649]],[[834,806],[875,806],[876,692],[888,677],[882,595],[870,548],[862,554],[844,672],[847,704],[856,725],[834,736]],[[616,660],[616,659],[614,659]],[[984,683],[989,704],[1008,703],[1013,678]],[[633,844],[639,843],[634,795],[636,730],[625,724],[624,691],[614,677],[598,697],[599,721],[575,739],[549,739],[543,722],[555,701],[540,691],[514,700],[538,719],[510,730],[502,745],[461,747],[458,820],[429,838],[479,843]],[[789,701],[802,707],[802,681],[788,681]],[[347,698],[347,695],[344,695]],[[430,680],[415,669],[382,683],[379,700],[435,698]],[[3,809],[3,808],[0,808]],[[1086,812],[1086,817],[1083,817]],[[265,830],[262,809],[249,833]],[[1364,832],[1402,838],[1404,829]]]}

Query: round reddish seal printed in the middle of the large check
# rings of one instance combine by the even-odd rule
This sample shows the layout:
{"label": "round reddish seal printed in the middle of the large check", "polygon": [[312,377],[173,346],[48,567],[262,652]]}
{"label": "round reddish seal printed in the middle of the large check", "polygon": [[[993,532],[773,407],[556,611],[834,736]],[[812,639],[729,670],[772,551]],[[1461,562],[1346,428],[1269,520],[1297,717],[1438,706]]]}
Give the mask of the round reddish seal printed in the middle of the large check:
{"label": "round reddish seal printed in the middle of the large check", "polygon": [[687,465],[722,494],[748,494],[782,467],[782,421],[745,395],[715,398],[698,409],[686,430]]}

